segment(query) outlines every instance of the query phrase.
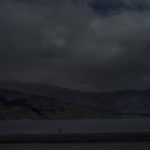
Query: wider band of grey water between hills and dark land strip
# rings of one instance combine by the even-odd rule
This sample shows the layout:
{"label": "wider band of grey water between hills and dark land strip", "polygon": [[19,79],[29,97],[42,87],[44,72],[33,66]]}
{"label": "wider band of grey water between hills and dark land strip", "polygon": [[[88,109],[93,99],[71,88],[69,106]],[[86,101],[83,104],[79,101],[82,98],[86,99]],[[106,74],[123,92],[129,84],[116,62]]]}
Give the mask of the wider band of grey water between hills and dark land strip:
{"label": "wider band of grey water between hills and dark land strip", "polygon": [[126,131],[150,131],[149,118],[136,119],[84,119],[84,120],[45,120],[45,121],[0,121],[0,134],[14,133],[102,133]]}

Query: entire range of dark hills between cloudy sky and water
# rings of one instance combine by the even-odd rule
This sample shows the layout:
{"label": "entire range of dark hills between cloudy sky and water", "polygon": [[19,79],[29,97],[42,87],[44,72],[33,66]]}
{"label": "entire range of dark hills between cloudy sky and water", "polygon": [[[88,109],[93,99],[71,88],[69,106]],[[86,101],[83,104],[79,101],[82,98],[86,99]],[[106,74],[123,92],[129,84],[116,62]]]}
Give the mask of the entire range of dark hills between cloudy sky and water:
{"label": "entire range of dark hills between cloudy sky and water", "polygon": [[12,112],[14,118],[32,119],[150,115],[150,90],[94,93],[15,82],[0,88],[0,119],[13,118]]}

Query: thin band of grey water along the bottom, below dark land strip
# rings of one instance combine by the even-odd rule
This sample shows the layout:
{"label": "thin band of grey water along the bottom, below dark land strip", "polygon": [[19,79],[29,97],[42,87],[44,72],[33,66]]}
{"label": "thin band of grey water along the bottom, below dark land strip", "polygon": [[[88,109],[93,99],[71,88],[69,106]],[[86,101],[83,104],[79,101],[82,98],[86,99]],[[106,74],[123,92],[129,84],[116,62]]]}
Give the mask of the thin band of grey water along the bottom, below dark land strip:
{"label": "thin band of grey water along the bottom, below dark land strip", "polygon": [[150,143],[0,144],[0,150],[150,150]]}

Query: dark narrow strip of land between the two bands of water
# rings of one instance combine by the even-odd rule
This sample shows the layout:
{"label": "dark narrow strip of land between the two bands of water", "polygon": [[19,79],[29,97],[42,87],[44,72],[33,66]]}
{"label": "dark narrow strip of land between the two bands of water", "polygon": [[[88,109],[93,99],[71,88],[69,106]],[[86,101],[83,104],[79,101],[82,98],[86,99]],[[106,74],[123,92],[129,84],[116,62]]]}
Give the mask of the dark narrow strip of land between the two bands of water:
{"label": "dark narrow strip of land between the two bands of water", "polygon": [[90,133],[90,134],[16,134],[0,135],[0,143],[53,142],[137,142],[150,141],[150,132]]}

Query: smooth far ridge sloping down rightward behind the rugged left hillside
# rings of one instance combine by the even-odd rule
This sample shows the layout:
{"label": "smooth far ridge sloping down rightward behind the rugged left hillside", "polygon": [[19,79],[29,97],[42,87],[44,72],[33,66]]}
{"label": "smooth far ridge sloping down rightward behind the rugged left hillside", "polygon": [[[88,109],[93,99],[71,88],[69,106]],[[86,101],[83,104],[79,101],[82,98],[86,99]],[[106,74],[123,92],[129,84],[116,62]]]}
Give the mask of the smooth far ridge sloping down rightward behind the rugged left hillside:
{"label": "smooth far ridge sloping down rightward behind the rugged left hillside", "polygon": [[0,82],[0,88],[21,91],[30,95],[50,96],[65,102],[90,104],[91,99],[99,100],[99,93],[84,92],[49,84],[22,83],[22,82]]}

